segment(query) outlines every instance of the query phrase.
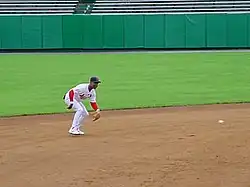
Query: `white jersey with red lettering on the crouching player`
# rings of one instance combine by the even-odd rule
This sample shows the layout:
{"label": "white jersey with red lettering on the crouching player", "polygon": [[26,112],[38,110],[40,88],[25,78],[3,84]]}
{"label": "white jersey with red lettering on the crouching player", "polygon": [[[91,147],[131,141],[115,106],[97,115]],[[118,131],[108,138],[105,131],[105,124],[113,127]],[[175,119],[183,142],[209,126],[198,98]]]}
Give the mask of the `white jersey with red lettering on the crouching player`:
{"label": "white jersey with red lettering on the crouching player", "polygon": [[[71,90],[74,91],[74,99],[77,101],[82,101],[85,99],[89,99],[90,102],[96,102],[96,91],[95,89],[91,89],[89,91],[89,84],[78,84]],[[70,92],[70,91],[69,91]]]}

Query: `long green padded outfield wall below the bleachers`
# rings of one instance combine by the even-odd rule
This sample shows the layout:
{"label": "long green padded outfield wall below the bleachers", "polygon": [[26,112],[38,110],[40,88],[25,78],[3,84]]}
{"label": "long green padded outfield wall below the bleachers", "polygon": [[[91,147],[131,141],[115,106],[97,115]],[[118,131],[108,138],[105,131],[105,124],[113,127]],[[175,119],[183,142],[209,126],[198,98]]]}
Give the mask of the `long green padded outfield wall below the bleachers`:
{"label": "long green padded outfield wall below the bleachers", "polygon": [[0,16],[1,49],[250,47],[250,14]]}

